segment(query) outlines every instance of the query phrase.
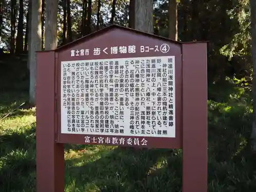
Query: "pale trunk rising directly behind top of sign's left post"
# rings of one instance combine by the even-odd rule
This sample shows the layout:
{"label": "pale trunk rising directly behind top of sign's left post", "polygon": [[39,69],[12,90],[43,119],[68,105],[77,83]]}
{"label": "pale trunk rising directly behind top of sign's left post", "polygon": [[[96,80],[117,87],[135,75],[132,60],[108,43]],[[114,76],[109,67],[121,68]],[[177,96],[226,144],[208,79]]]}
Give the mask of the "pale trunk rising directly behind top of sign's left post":
{"label": "pale trunk rising directly behind top of sign's left post", "polygon": [[57,22],[58,22],[58,2],[52,0],[46,1],[46,33],[45,50],[54,50],[57,48]]}

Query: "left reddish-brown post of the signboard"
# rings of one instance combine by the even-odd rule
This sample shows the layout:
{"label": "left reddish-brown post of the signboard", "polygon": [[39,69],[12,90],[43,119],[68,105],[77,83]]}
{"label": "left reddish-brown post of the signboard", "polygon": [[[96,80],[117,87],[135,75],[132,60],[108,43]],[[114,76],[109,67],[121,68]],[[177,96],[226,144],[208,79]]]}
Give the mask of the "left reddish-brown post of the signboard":
{"label": "left reddish-brown post of the signboard", "polygon": [[36,187],[37,192],[64,192],[64,150],[56,143],[55,54],[37,53]]}

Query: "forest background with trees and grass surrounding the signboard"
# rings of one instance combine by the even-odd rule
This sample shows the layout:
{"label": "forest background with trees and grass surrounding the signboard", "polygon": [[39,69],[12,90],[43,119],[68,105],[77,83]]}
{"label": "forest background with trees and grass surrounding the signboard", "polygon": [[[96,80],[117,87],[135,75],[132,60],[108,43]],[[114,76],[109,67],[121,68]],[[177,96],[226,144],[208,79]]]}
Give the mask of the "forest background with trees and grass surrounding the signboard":
{"label": "forest background with trees and grass surrounding the signboard", "polygon": [[[34,51],[111,24],[209,41],[208,191],[256,191],[256,1],[136,1],[0,0],[0,191],[35,191]],[[181,191],[182,150],[66,145],[65,158],[66,191]]]}

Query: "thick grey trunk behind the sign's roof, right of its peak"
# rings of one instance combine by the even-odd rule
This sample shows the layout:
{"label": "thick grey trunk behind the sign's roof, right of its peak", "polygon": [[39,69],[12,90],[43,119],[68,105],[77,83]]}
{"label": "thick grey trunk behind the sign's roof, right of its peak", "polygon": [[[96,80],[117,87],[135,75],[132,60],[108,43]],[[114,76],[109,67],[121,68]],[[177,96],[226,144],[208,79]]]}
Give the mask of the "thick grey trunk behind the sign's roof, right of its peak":
{"label": "thick grey trunk behind the sign's roof, right of its peak", "polygon": [[153,0],[135,1],[135,29],[154,33]]}

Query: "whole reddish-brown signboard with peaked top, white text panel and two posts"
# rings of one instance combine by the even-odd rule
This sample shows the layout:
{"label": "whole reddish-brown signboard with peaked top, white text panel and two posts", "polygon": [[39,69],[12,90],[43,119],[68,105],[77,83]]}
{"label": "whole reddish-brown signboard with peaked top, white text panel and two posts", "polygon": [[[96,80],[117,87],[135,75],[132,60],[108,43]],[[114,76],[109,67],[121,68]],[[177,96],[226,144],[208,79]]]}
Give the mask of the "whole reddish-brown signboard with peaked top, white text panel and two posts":
{"label": "whole reddish-brown signboard with peaked top, white text panel and two posts", "polygon": [[183,192],[206,192],[206,48],[112,25],[38,52],[37,191],[64,191],[74,143],[182,148]]}

